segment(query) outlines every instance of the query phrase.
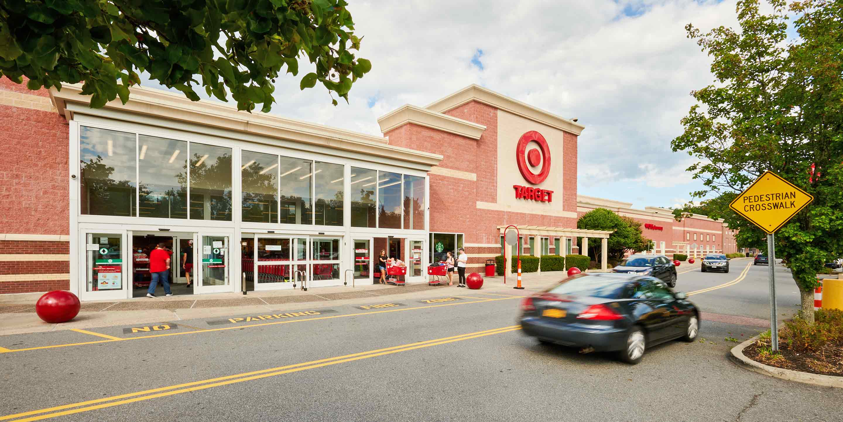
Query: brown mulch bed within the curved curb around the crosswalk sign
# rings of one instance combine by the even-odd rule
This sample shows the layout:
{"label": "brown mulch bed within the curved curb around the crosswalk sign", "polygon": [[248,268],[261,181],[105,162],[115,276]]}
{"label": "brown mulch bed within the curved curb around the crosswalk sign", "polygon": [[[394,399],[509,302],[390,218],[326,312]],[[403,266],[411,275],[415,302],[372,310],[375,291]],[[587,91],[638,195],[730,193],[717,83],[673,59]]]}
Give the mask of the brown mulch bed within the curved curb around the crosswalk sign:
{"label": "brown mulch bed within the curved curb around the crosswalk sign", "polygon": [[753,361],[777,368],[843,377],[843,345],[825,345],[817,352],[796,352],[788,348],[787,342],[779,339],[781,357],[771,355],[770,348],[770,339],[758,339],[744,349],[744,355]]}

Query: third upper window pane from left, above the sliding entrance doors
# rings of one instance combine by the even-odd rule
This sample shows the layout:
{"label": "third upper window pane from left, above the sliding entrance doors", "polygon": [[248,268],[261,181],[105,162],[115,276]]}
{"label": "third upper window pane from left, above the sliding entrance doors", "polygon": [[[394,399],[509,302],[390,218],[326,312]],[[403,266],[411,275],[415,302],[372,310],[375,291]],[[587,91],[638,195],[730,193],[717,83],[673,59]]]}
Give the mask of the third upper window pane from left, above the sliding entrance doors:
{"label": "third upper window pane from left, above the sliding entrance doors", "polygon": [[231,221],[231,148],[191,142],[191,219]]}

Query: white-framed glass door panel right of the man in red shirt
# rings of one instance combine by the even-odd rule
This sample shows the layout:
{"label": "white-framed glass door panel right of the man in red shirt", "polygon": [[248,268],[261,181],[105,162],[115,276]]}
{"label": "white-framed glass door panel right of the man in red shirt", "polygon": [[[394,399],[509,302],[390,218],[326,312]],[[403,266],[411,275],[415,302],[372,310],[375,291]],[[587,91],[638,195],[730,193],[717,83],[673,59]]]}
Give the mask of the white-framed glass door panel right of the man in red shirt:
{"label": "white-framed glass door panel right of the man in red shirt", "polygon": [[228,274],[228,235],[199,233],[196,238],[193,261],[199,265],[194,293],[233,291]]}

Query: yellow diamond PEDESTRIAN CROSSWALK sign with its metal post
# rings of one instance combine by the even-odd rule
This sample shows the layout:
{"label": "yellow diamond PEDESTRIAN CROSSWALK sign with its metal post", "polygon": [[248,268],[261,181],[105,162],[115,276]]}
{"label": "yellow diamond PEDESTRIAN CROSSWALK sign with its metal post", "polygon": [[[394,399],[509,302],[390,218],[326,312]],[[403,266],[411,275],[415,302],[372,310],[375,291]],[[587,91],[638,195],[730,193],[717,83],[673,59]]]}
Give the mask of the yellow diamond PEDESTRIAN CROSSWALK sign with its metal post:
{"label": "yellow diamond PEDESTRIAN CROSSWALK sign with its metal post", "polygon": [[770,267],[770,340],[773,352],[779,351],[779,320],[776,317],[776,237],[778,231],[799,211],[808,206],[813,196],[795,184],[766,171],[749,188],[741,192],[729,208],[767,233],[767,260]]}

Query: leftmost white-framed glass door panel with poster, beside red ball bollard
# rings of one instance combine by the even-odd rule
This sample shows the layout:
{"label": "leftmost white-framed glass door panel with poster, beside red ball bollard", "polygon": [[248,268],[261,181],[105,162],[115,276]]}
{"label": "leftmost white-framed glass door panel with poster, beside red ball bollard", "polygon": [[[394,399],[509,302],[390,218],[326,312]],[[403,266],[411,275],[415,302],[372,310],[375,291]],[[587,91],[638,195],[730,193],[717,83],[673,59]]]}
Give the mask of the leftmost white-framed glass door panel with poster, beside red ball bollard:
{"label": "leftmost white-framed glass door panel with poster, beside red ball bollard", "polygon": [[79,298],[83,301],[125,299],[128,250],[126,232],[82,232],[85,251]]}

